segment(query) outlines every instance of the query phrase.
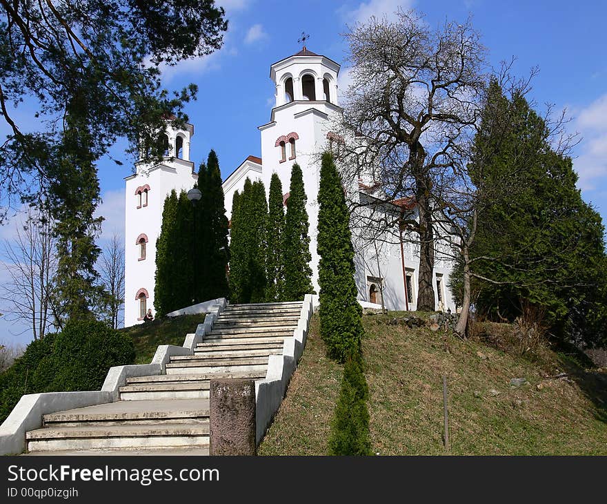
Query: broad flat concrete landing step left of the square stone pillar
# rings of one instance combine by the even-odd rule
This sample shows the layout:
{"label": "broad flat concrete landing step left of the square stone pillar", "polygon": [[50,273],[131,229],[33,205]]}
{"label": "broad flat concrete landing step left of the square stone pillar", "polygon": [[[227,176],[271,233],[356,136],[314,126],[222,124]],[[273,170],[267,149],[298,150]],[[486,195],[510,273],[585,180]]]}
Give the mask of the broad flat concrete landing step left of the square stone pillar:
{"label": "broad flat concrete landing step left of the square stone pillar", "polygon": [[51,413],[44,415],[42,421],[44,427],[153,425],[159,422],[203,423],[208,415],[208,399],[119,400]]}

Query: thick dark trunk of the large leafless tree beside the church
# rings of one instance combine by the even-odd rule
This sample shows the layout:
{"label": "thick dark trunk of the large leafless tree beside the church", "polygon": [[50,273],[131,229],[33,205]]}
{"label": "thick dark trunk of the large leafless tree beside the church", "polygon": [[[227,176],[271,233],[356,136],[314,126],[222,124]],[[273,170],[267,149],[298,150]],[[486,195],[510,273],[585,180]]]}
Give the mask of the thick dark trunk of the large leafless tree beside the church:
{"label": "thick dark trunk of the large leafless tree beside the church", "polygon": [[417,183],[417,207],[419,209],[419,284],[417,287],[417,310],[434,311],[434,289],[432,271],[434,270],[434,227],[432,226],[432,208],[426,189],[428,180]]}

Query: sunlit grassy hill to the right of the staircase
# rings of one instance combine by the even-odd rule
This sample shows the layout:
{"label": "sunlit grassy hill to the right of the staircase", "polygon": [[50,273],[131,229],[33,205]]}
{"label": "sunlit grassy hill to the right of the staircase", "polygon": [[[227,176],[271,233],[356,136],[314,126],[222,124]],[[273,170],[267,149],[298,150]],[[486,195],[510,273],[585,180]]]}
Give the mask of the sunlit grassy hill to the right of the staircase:
{"label": "sunlit grassy hill to the right of the staircase", "polygon": [[[548,345],[520,356],[508,324],[477,324],[478,336],[466,341],[428,327],[388,324],[401,315],[363,320],[373,452],[446,453],[446,374],[451,454],[607,454],[607,374],[584,356]],[[314,316],[304,356],[259,454],[327,453],[342,367],[326,358],[318,329]],[[526,383],[513,386],[512,378]]]}

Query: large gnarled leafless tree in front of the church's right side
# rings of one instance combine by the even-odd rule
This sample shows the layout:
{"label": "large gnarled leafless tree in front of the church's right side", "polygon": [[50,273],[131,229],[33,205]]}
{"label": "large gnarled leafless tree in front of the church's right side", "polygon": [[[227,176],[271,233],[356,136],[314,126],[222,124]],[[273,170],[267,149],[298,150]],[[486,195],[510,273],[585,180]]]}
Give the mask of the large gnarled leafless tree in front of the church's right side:
{"label": "large gnarled leafless tree in front of the church's right side", "polygon": [[[345,34],[352,85],[341,124],[346,139],[335,153],[344,182],[372,188],[370,211],[355,213],[360,227],[399,243],[401,232],[419,244],[417,309],[434,310],[433,197],[437,176],[459,162],[485,87],[485,49],[470,20],[432,30],[415,12],[396,21],[371,18]],[[415,202],[412,214],[386,212],[395,200]],[[355,200],[352,206],[368,205]]]}

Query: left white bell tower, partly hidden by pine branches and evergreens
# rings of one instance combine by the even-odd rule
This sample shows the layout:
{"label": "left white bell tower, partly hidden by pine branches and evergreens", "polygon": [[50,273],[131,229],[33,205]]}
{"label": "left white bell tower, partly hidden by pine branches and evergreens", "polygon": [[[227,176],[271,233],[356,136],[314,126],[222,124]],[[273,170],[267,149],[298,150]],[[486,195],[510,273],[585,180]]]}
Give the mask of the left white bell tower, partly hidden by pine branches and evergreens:
{"label": "left white bell tower, partly hidden by pine branches and evergreens", "polygon": [[135,173],[125,178],[125,327],[141,322],[150,308],[156,313],[156,240],[162,226],[164,200],[172,189],[177,193],[188,191],[198,179],[190,161],[194,126],[186,123],[183,128],[175,128],[174,119],[168,117],[165,130],[160,133],[165,146],[162,159],[149,162],[142,153],[135,163]]}

